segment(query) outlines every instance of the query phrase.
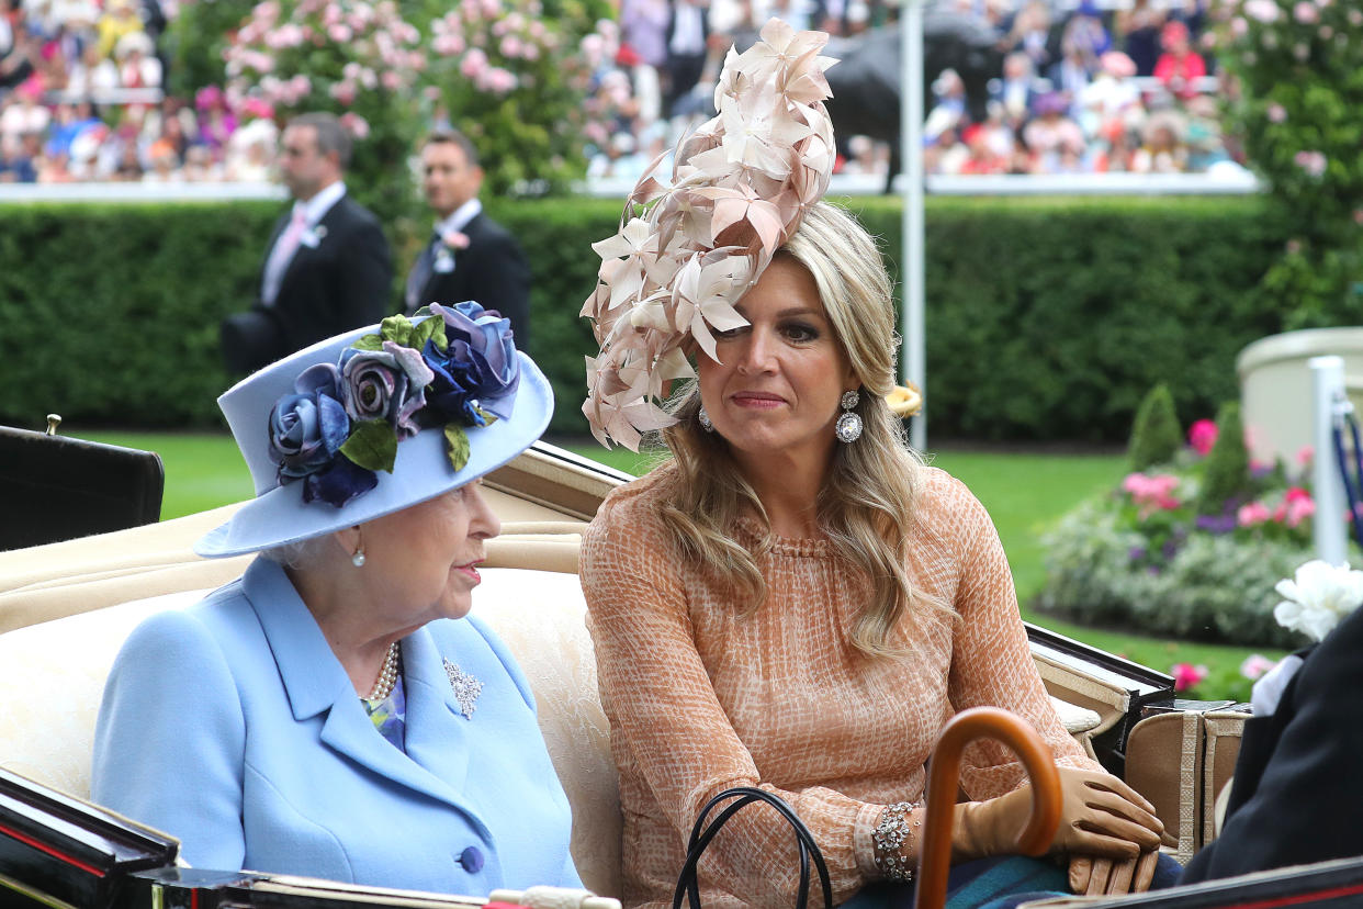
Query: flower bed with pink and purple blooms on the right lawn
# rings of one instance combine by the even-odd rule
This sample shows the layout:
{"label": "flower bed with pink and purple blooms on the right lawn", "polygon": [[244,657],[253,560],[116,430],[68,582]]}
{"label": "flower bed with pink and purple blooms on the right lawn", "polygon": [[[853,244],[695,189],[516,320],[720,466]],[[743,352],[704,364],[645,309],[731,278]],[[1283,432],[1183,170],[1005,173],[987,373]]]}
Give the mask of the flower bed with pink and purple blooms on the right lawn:
{"label": "flower bed with pink and purple blooms on the right lawn", "polygon": [[[1235,428],[1239,435],[1238,418]],[[1306,643],[1274,619],[1274,585],[1313,557],[1310,451],[1291,466],[1250,462],[1236,491],[1209,506],[1217,435],[1198,421],[1171,459],[1066,515],[1045,538],[1047,583],[1036,608],[1144,635]]]}

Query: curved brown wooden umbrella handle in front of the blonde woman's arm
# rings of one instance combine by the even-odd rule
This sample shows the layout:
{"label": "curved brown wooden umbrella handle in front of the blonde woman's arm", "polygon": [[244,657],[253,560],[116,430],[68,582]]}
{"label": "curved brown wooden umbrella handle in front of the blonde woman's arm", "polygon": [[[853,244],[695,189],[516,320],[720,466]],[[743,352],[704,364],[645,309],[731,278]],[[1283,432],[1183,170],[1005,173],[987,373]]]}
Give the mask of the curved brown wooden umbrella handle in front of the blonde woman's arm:
{"label": "curved brown wooden umbrella handle in front of the blonde woman's arm", "polygon": [[1032,780],[1032,815],[1017,852],[1040,856],[1051,846],[1060,826],[1060,774],[1055,756],[1040,733],[1021,717],[999,707],[962,710],[943,726],[942,737],[928,760],[928,816],[919,849],[919,886],[915,909],[946,905],[946,882],[951,867],[951,822],[961,785],[961,754],[976,739],[998,739],[1022,759]]}

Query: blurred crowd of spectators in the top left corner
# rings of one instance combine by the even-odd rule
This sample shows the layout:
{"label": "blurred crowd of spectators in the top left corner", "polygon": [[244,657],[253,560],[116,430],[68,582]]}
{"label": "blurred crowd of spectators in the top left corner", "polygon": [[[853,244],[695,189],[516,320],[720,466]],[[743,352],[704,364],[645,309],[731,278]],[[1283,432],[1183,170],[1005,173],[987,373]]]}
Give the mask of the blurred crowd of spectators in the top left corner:
{"label": "blurred crowd of spectators in the top left corner", "polygon": [[165,94],[158,0],[0,0],[0,183],[266,180],[275,128]]}

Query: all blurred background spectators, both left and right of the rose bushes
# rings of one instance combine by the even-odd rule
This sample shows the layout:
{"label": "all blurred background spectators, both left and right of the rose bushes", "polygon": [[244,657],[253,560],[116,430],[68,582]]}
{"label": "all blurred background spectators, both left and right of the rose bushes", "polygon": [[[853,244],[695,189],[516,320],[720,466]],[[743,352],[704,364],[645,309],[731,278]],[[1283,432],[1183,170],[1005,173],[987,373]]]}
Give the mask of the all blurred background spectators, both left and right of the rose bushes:
{"label": "all blurred background spectators, both left and right of the rose bushes", "polygon": [[[992,30],[996,74],[968,97],[938,74],[928,173],[1209,170],[1228,161],[1206,42],[1216,0],[934,0]],[[275,129],[217,89],[162,91],[162,3],[0,0],[0,181],[255,181]],[[1077,3],[1077,5],[1075,5]],[[711,116],[724,55],[769,16],[855,37],[893,23],[890,0],[617,0],[583,42],[592,68],[590,179],[637,179]],[[931,75],[931,74],[930,74]],[[976,93],[980,94],[980,93]],[[245,123],[239,128],[239,116]],[[880,174],[889,146],[840,135],[838,170]]]}

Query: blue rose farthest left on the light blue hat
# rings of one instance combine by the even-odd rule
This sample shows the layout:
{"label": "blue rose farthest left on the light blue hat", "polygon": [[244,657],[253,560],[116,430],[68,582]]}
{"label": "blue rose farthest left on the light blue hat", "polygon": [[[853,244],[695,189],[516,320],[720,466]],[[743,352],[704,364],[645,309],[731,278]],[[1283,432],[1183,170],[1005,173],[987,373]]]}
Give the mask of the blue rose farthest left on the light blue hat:
{"label": "blue rose farthest left on the light blue hat", "polygon": [[350,435],[350,418],[341,405],[341,371],[319,363],[294,380],[294,394],[270,410],[270,457],[279,465],[279,481],[316,473],[331,463]]}

